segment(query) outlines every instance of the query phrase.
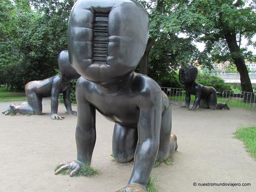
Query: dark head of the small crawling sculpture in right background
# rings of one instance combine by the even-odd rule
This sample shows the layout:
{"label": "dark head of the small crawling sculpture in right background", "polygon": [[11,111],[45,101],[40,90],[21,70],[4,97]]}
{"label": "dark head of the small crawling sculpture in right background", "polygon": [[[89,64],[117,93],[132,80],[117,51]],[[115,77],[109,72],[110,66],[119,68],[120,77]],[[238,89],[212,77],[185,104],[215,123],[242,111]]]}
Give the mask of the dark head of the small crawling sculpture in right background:
{"label": "dark head of the small crawling sculpture in right background", "polygon": [[184,85],[193,83],[198,76],[198,68],[189,65],[186,68],[181,68],[179,71],[179,80]]}

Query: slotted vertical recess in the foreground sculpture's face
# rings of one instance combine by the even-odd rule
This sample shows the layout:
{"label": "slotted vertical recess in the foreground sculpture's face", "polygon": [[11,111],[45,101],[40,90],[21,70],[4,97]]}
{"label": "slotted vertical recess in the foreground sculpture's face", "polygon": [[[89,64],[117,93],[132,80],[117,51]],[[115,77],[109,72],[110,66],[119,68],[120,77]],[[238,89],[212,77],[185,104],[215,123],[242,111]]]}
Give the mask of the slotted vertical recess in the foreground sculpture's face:
{"label": "slotted vertical recess in the foreground sculpture's face", "polygon": [[109,36],[109,14],[95,13],[93,62],[106,63],[107,61],[107,39]]}

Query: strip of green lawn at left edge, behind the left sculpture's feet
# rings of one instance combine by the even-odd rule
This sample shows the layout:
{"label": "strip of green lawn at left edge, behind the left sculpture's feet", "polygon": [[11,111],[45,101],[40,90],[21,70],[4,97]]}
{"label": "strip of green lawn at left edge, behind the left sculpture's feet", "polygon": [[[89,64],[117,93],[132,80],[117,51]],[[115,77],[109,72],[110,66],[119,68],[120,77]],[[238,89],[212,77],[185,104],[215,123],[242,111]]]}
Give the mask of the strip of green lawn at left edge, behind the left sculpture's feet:
{"label": "strip of green lawn at left edge, behind the left sculpture's feet", "polygon": [[20,92],[10,92],[6,87],[0,87],[0,102],[26,100],[25,94]]}

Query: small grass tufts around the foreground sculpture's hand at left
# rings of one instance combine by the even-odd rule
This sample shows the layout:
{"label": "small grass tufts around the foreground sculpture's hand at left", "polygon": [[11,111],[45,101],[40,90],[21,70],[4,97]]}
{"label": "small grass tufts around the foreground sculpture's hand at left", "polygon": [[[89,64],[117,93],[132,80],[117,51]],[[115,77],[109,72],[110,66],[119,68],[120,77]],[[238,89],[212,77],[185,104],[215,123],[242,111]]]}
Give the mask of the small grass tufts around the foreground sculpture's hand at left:
{"label": "small grass tufts around the foreground sculpture's hand at left", "polygon": [[[61,165],[57,165],[55,170],[58,170],[61,168]],[[71,173],[71,169],[67,169],[67,170],[63,170],[61,171],[61,174],[62,175],[69,175]],[[94,175],[97,175],[99,174],[99,170],[97,169],[93,169],[91,168],[90,166],[82,166],[82,169],[80,171],[78,171],[78,173],[75,175],[75,176],[87,176],[87,177],[90,177],[90,176],[94,176]]]}

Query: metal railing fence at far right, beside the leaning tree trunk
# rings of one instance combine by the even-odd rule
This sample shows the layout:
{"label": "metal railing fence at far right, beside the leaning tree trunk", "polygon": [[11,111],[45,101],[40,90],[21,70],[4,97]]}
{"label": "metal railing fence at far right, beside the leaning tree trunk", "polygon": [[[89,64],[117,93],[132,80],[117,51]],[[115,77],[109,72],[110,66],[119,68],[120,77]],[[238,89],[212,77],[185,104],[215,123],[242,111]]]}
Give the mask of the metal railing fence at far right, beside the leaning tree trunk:
{"label": "metal railing fence at far right, beside the leaning tree trunk", "polygon": [[244,109],[256,110],[256,93],[253,92],[224,90],[222,99],[223,102],[227,102],[230,107],[242,107]]}

